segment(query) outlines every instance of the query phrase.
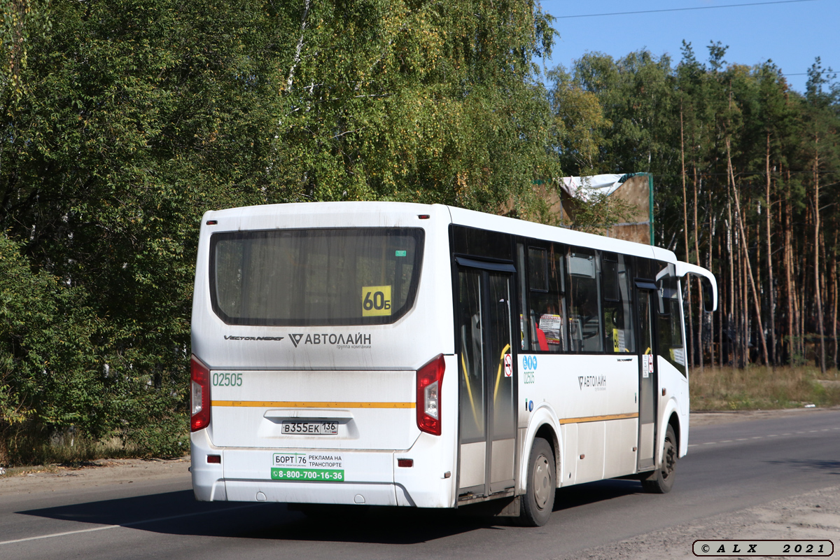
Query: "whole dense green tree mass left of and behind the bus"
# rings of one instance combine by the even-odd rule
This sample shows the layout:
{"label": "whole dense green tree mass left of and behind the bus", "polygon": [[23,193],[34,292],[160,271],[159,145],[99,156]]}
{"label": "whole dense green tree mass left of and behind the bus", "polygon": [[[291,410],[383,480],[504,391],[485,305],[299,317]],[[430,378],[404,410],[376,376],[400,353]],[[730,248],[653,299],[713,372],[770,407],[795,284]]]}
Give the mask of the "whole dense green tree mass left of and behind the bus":
{"label": "whole dense green tree mass left of and behind the bus", "polygon": [[207,209],[539,218],[533,181],[558,175],[532,62],[554,30],[528,0],[3,0],[3,17],[0,430],[179,452]]}

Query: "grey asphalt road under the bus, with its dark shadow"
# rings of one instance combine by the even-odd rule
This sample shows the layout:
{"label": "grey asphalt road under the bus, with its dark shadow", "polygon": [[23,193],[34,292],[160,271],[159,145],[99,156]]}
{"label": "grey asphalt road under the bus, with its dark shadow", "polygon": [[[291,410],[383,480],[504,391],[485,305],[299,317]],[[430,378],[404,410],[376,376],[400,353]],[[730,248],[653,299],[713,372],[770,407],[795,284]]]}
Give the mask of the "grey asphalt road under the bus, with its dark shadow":
{"label": "grey asphalt road under the bus, with its dark shadow", "polygon": [[539,528],[450,511],[310,519],[205,504],[189,478],[0,495],[0,558],[552,558],[840,484],[840,411],[692,427],[668,495],[607,480],[560,489]]}

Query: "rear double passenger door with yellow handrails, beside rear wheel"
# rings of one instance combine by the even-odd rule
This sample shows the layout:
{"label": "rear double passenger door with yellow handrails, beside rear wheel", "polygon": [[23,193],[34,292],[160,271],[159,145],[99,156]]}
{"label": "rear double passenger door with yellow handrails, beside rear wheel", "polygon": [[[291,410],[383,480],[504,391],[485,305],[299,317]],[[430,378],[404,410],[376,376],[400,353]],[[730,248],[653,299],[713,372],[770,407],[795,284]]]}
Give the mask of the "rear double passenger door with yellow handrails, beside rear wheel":
{"label": "rear double passenger door with yellow handrails, beside rear wheel", "polygon": [[513,288],[507,265],[498,268],[458,274],[459,495],[514,486]]}

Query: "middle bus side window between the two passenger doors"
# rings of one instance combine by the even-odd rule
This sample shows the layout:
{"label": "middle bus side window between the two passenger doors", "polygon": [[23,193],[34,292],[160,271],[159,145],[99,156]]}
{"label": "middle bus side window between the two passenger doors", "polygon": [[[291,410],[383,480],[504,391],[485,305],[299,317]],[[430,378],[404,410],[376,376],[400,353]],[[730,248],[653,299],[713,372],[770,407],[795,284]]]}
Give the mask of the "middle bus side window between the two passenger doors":
{"label": "middle bus side window between the two passenger doors", "polygon": [[601,259],[592,249],[569,251],[569,334],[572,352],[603,352]]}

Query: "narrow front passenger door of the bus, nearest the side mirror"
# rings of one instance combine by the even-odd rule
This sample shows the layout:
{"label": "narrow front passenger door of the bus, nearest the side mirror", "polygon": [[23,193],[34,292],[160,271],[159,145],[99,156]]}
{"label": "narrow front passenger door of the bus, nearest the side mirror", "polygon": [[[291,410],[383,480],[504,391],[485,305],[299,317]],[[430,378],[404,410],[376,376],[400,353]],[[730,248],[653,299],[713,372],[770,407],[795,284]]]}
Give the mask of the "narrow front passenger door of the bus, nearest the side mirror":
{"label": "narrow front passenger door of the bus, nearest the side mirror", "polygon": [[[638,285],[637,286],[642,287]],[[644,286],[647,288],[648,286]],[[655,288],[656,285],[651,284]],[[638,471],[651,470],[656,466],[656,391],[659,388],[656,364],[656,335],[654,325],[654,302],[656,292],[638,290],[639,359],[638,373]]]}

